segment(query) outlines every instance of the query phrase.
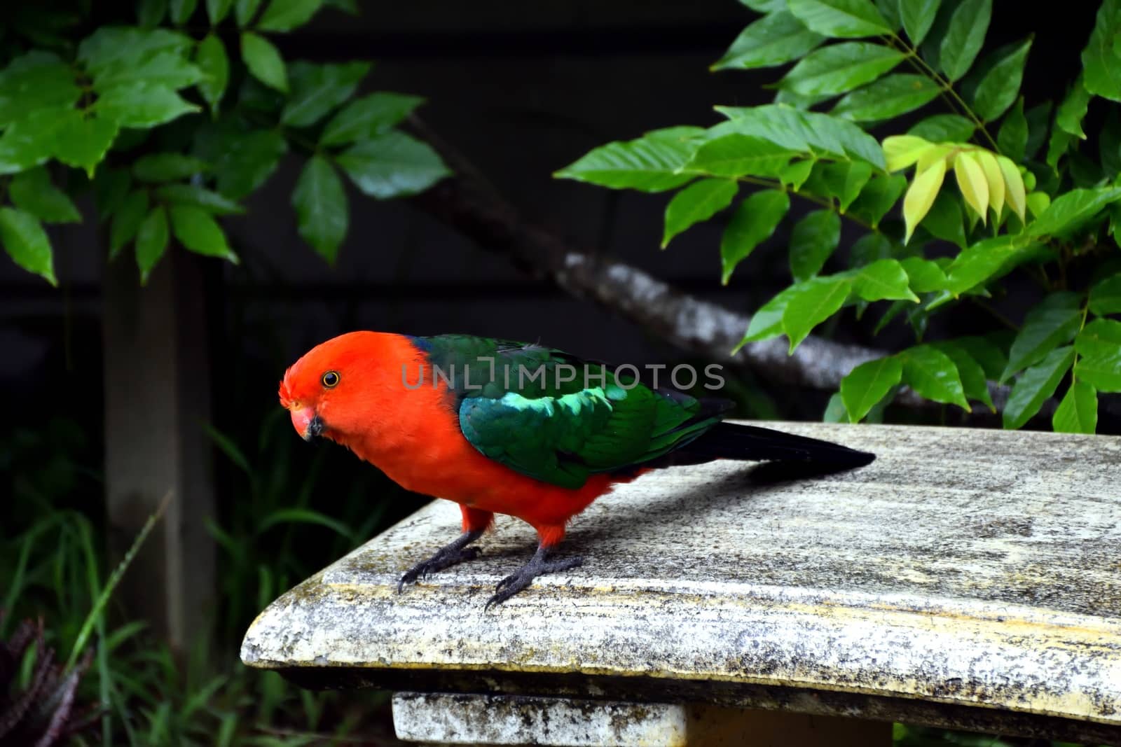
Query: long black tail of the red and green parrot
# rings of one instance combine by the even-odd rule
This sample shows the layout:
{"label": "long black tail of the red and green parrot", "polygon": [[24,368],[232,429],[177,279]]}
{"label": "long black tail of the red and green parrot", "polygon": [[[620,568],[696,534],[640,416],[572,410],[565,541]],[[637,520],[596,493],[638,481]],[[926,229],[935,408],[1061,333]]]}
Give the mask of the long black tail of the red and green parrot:
{"label": "long black tail of the red and green parrot", "polygon": [[876,455],[770,428],[719,422],[679,449],[641,466],[697,465],[714,459],[803,461],[851,469],[870,464]]}

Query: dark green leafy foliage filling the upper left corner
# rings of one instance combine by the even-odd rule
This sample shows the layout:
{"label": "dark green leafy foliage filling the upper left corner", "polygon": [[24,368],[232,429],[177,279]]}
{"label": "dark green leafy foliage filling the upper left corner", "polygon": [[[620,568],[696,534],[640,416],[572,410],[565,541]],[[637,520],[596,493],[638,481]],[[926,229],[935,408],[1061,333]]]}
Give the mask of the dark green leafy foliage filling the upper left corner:
{"label": "dark green leafy foliage filling the upper left corner", "polygon": [[420,99],[356,96],[370,63],[289,62],[277,48],[323,7],[353,2],[139,0],[131,24],[73,4],[12,9],[0,38],[0,243],[53,284],[44,224],[81,221],[72,198],[86,188],[109,258],[133,248],[142,282],[173,239],[237,262],[217,218],[243,213],[289,150],[307,156],[291,194],[299,235],[327,262],[348,231],[340,170],[378,199],[448,174],[398,129]]}

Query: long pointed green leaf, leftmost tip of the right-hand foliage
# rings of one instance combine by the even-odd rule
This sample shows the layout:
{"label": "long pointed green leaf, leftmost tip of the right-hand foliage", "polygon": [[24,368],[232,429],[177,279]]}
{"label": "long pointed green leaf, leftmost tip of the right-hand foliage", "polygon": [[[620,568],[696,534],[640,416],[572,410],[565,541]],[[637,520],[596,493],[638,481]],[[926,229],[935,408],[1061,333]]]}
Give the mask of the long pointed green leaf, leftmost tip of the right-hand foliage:
{"label": "long pointed green leaf, leftmost tip of the right-hand foliage", "polygon": [[701,128],[669,128],[647,132],[627,142],[609,142],[592,150],[554,176],[612,189],[665,192],[693,179],[678,174],[696,148]]}

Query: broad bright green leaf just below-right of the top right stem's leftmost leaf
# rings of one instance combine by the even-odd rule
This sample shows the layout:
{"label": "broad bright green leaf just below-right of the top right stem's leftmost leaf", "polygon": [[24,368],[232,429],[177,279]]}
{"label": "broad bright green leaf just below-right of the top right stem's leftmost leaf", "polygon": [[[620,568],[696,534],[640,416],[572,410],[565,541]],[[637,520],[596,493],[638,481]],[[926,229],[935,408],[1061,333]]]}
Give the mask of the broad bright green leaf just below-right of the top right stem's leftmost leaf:
{"label": "broad bright green leaf just below-right of the top right stem's leftmost leaf", "polygon": [[874,81],[902,60],[901,52],[880,44],[833,44],[803,57],[779,87],[805,96],[835,95]]}

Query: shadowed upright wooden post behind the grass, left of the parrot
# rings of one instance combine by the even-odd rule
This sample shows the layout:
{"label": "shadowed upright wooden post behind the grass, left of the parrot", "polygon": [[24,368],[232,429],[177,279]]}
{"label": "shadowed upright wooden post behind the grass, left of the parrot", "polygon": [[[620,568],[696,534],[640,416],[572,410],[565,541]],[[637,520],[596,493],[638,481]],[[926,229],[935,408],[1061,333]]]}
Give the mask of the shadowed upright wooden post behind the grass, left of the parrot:
{"label": "shadowed upright wooden post behind the grass, left of the parrot", "polygon": [[120,558],[173,492],[119,595],[183,653],[213,613],[214,513],[210,382],[203,278],[196,258],[169,252],[141,288],[136,265],[105,269],[105,499],[112,554]]}

